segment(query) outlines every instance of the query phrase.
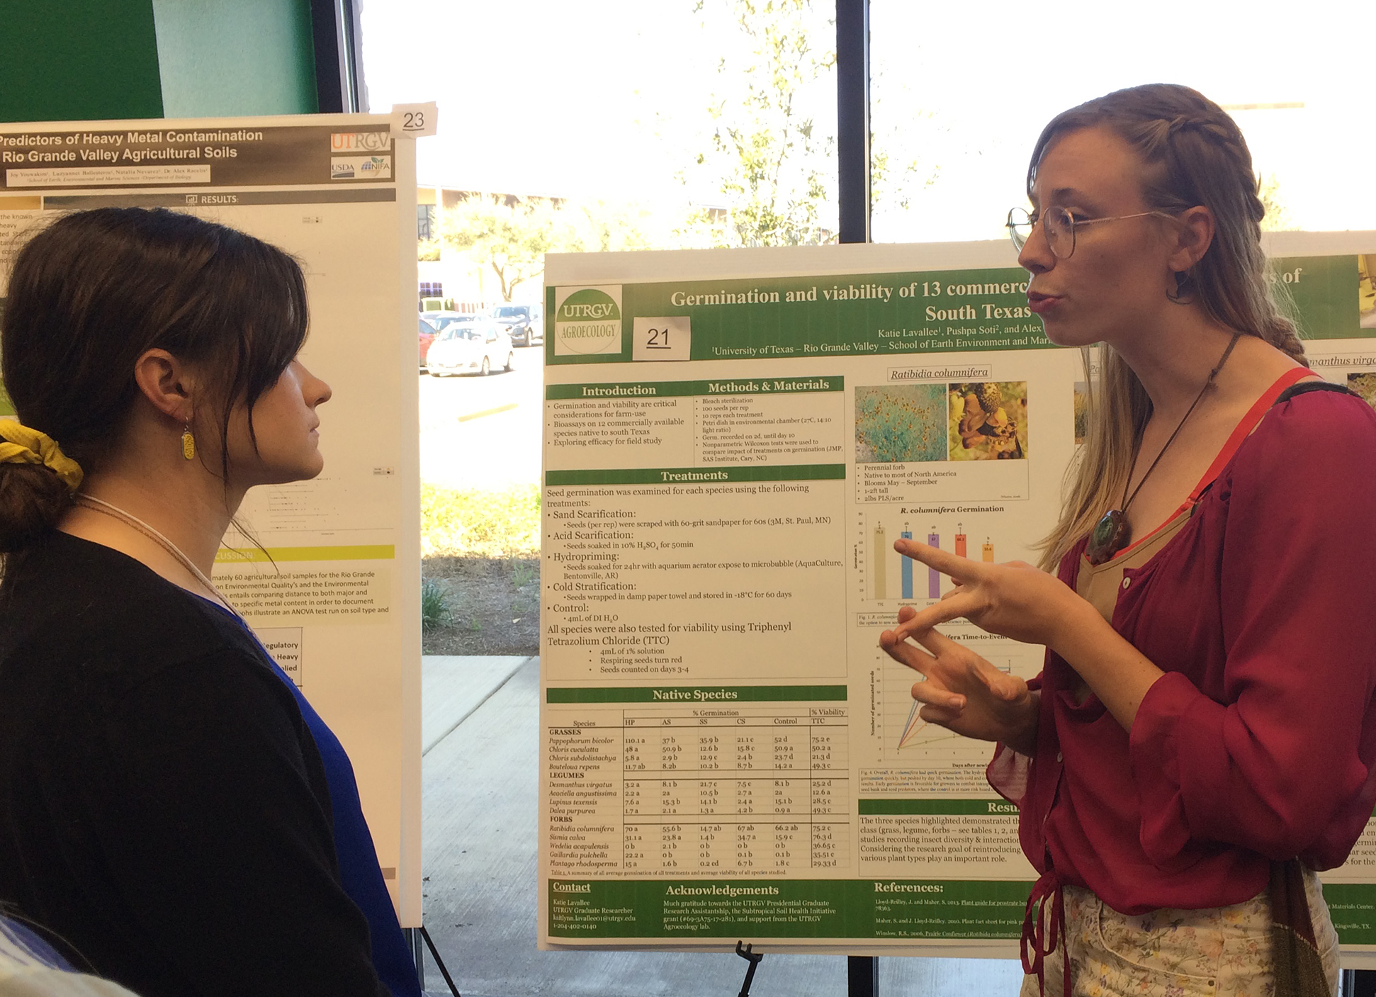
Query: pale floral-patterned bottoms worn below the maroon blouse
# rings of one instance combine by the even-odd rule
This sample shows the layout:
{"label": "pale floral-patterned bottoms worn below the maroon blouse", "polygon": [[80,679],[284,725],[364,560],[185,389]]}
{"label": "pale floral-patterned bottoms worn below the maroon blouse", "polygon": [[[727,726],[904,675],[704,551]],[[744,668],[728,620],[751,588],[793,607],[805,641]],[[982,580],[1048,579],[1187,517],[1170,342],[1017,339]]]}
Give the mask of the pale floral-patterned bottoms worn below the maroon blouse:
{"label": "pale floral-patterned bottoms worn below the maroon blouse", "polygon": [[[1304,895],[1329,990],[1337,993],[1337,932],[1318,876]],[[1047,908],[1051,905],[1047,903]],[[1050,916],[1050,913],[1047,913]],[[1075,997],[1271,997],[1271,905],[1266,891],[1226,908],[1120,914],[1088,890],[1065,887],[1065,939]],[[1046,997],[1062,997],[1061,950],[1046,958]],[[1039,997],[1036,976],[1021,997]]]}

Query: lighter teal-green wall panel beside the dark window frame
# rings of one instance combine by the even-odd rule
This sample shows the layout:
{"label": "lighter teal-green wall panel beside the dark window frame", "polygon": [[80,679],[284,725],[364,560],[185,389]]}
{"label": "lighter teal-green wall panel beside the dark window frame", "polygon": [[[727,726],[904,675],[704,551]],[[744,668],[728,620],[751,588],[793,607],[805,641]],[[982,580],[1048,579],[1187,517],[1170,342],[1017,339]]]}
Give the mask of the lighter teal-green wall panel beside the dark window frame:
{"label": "lighter teal-green wall panel beside the dark window frame", "polygon": [[310,0],[153,0],[169,118],[311,114]]}

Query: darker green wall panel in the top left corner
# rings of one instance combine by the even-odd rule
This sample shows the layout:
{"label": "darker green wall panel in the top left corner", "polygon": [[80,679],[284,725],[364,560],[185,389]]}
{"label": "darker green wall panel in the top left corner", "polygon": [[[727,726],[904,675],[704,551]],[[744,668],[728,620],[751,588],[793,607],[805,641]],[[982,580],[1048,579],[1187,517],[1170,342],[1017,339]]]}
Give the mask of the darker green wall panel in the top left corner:
{"label": "darker green wall panel in the top left corner", "polygon": [[151,0],[0,0],[0,121],[158,117]]}

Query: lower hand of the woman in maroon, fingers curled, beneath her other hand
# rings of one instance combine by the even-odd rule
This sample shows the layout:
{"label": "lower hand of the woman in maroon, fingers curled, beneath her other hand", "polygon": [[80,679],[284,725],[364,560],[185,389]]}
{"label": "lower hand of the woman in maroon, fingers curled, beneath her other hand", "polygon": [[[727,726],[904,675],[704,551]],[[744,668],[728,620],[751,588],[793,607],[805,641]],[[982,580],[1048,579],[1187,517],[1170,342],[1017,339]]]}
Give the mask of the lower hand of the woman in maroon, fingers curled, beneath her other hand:
{"label": "lower hand of the woman in maroon, fingers curled, beneath her other hand", "polygon": [[912,630],[918,615],[912,606],[903,606],[899,628],[879,635],[879,646],[893,660],[925,677],[912,686],[912,699],[923,704],[918,715],[958,734],[1004,741],[1031,754],[1026,745],[1036,738],[1038,703],[1028,683],[936,630]]}

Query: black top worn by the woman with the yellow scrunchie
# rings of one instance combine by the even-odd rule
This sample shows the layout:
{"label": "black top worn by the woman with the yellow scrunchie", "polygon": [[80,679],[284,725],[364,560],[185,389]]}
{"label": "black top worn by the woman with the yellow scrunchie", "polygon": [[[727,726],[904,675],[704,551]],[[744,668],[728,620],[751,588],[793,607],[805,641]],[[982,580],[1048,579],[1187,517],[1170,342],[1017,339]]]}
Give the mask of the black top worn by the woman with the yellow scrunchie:
{"label": "black top worn by the woman with the yellow scrunchie", "polygon": [[0,601],[0,902],[142,997],[385,997],[325,769],[231,617],[52,532]]}

